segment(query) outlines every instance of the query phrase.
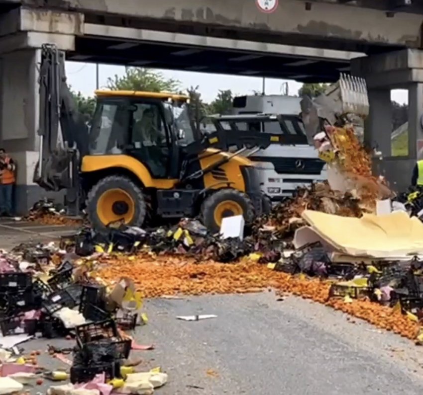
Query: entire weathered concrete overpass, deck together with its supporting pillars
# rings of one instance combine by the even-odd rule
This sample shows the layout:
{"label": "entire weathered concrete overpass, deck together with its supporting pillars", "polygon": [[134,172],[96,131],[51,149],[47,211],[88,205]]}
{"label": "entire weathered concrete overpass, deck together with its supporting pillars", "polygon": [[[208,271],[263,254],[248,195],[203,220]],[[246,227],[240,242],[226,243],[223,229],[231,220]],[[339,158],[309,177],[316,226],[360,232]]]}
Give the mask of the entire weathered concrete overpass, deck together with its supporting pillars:
{"label": "entire weathered concrete overpass, deck together with its supporting pillars", "polygon": [[[410,125],[420,125],[423,10],[395,12],[376,3],[363,8],[285,0],[264,14],[252,0],[0,0],[0,144],[19,163],[18,208],[25,210],[40,196],[32,171],[41,44],[56,43],[70,60],[299,81],[336,80],[340,71],[349,71],[351,59],[367,53],[353,61],[353,71],[371,87],[368,141],[385,147],[379,131],[388,127],[392,87],[411,87],[410,101],[422,105],[411,111]],[[390,55],[380,55],[385,52]],[[411,148],[407,166],[416,156]]]}

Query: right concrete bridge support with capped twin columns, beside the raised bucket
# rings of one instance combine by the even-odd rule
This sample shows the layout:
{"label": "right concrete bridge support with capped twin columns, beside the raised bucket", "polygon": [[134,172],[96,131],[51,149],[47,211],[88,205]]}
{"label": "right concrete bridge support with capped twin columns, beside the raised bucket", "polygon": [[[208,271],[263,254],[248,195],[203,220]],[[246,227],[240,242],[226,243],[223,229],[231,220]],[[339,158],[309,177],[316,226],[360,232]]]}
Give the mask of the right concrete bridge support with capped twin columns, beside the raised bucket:
{"label": "right concrete bridge support with capped twin columns, beside the raised bucket", "polygon": [[[423,51],[401,50],[351,61],[351,73],[366,79],[370,113],[365,123],[365,141],[378,146],[383,160],[380,173],[397,191],[404,191],[411,180],[416,159],[423,158]],[[391,89],[408,89],[408,155],[391,154]],[[376,143],[376,144],[375,144]]]}

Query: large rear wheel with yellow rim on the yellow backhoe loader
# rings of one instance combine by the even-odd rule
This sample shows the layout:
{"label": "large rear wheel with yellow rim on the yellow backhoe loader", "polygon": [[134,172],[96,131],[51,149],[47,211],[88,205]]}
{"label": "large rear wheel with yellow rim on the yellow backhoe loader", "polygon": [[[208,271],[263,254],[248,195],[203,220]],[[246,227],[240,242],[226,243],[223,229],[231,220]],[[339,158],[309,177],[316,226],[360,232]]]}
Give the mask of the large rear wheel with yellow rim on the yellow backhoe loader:
{"label": "large rear wheel with yellow rim on the yellow backhoe loader", "polygon": [[119,220],[129,226],[140,227],[145,212],[141,188],[127,177],[105,177],[88,193],[87,214],[94,229],[105,229],[108,224]]}

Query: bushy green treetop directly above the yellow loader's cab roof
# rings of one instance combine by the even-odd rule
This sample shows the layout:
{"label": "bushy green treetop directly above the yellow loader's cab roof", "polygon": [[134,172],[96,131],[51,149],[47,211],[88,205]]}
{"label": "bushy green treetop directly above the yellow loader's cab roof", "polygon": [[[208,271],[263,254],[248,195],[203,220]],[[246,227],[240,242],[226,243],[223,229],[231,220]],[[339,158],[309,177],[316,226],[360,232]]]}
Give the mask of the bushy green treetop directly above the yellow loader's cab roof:
{"label": "bushy green treetop directly above the yellow loader's cab roof", "polygon": [[107,79],[107,88],[112,90],[142,90],[147,92],[177,92],[180,81],[166,79],[162,73],[141,67],[126,67],[125,75]]}

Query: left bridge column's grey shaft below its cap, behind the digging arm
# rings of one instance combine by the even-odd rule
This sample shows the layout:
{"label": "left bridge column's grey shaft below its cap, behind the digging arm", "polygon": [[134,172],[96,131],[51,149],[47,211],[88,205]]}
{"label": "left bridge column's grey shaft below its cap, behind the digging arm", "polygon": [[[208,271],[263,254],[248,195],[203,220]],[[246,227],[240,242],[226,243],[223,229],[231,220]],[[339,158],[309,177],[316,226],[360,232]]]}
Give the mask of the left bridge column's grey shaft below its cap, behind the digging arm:
{"label": "left bridge column's grey shaft below its cap, behind the digging arm", "polygon": [[38,49],[0,55],[0,147],[16,161],[13,202],[17,215],[51,196],[32,182],[39,147],[39,56]]}

